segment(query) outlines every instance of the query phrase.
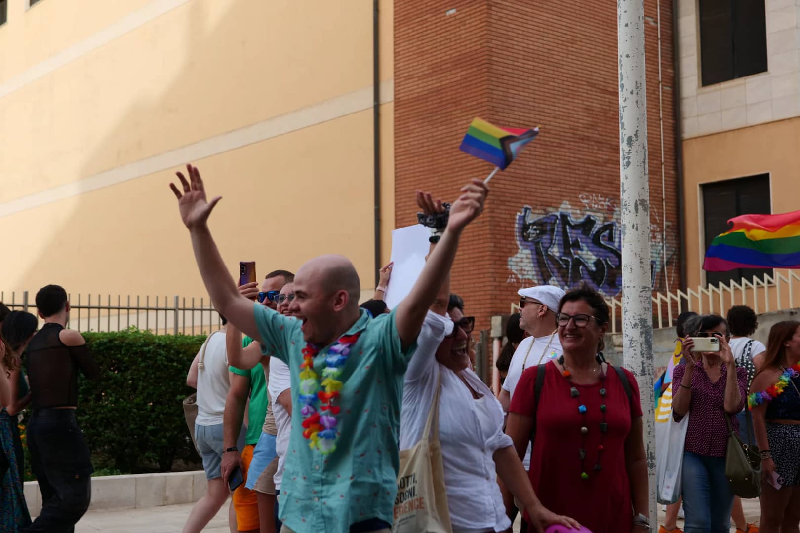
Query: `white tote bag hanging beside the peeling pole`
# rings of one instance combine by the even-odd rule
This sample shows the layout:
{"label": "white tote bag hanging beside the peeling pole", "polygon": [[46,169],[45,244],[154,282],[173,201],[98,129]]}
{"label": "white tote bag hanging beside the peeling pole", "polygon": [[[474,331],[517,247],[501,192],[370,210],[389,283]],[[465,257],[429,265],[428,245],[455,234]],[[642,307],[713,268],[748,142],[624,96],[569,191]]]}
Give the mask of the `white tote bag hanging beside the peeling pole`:
{"label": "white tote bag hanging beside the peeling pole", "polygon": [[681,471],[683,448],[686,446],[686,430],[689,428],[689,413],[680,422],[670,416],[662,438],[656,436],[655,478],[658,503],[675,503],[681,497]]}

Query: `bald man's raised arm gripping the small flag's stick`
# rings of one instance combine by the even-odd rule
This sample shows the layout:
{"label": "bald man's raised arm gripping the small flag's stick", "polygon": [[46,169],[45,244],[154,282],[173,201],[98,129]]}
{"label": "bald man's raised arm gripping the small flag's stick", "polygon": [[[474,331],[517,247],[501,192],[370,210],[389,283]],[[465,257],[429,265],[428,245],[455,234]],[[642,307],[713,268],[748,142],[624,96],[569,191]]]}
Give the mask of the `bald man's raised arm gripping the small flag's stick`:
{"label": "bald man's raised arm gripping the small flag's stick", "polygon": [[428,308],[434,303],[439,288],[450,274],[461,233],[482,213],[489,188],[481,180],[472,180],[461,192],[462,195],[450,208],[450,217],[442,238],[428,256],[425,268],[422,268],[411,292],[398,305],[395,320],[402,348],[407,348],[417,339]]}

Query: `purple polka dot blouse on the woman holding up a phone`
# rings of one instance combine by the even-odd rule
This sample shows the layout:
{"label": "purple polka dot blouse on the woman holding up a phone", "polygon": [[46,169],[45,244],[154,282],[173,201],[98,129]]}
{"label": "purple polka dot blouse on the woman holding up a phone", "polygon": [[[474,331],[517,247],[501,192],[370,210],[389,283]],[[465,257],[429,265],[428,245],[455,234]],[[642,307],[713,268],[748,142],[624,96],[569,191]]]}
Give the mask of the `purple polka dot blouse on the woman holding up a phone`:
{"label": "purple polka dot blouse on the woman holding up a phone", "polygon": [[[681,387],[683,375],[686,372],[686,364],[678,364],[672,371],[672,402],[681,394],[688,394],[686,388]],[[684,451],[692,451],[699,455],[712,455],[714,457],[724,457],[728,444],[728,425],[725,423],[725,384],[728,376],[727,368],[722,364],[722,375],[715,383],[706,374],[706,369],[702,366],[702,360],[694,365],[692,373],[691,395],[692,401],[689,406],[689,428],[686,429],[686,447]],[[744,368],[736,368],[736,380],[739,385],[739,393],[742,395],[741,403],[737,411],[742,411],[744,401],[747,397],[747,371]],[[676,412],[672,412],[676,422],[682,420]],[[738,420],[735,416],[730,417],[730,424],[734,432],[738,431]]]}

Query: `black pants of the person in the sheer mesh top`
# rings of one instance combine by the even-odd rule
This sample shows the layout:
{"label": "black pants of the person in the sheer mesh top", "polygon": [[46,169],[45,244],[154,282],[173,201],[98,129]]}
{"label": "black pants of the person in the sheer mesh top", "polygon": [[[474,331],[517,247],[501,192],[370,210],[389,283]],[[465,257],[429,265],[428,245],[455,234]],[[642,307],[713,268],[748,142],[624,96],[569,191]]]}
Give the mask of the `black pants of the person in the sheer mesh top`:
{"label": "black pants of the person in the sheer mesh top", "polygon": [[73,533],[89,508],[92,464],[74,409],[39,409],[28,423],[30,462],[42,512],[22,531]]}

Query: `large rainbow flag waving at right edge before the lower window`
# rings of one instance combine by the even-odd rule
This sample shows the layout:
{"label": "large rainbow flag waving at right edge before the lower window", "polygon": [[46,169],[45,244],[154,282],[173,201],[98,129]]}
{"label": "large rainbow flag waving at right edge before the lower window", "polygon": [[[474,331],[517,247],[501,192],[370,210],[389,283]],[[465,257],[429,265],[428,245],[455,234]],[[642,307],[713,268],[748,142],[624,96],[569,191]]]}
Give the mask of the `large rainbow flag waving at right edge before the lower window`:
{"label": "large rainbow flag waving at right edge before the lower window", "polygon": [[702,268],[800,268],[800,211],[779,215],[741,215],[734,227],[714,237]]}

